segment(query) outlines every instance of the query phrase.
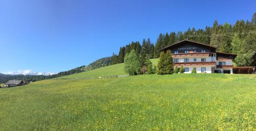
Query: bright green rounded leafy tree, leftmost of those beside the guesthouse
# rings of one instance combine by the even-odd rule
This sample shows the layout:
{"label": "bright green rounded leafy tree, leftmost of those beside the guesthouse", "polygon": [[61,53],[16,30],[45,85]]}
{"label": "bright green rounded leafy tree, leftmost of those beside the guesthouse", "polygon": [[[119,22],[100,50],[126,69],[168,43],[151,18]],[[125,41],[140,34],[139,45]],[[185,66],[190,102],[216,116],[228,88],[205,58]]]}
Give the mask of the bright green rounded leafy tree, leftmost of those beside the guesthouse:
{"label": "bright green rounded leafy tree, leftmost of those beside the guesthouse", "polygon": [[140,70],[139,58],[136,55],[135,50],[131,50],[129,54],[126,54],[124,58],[124,71],[130,75],[136,75]]}

